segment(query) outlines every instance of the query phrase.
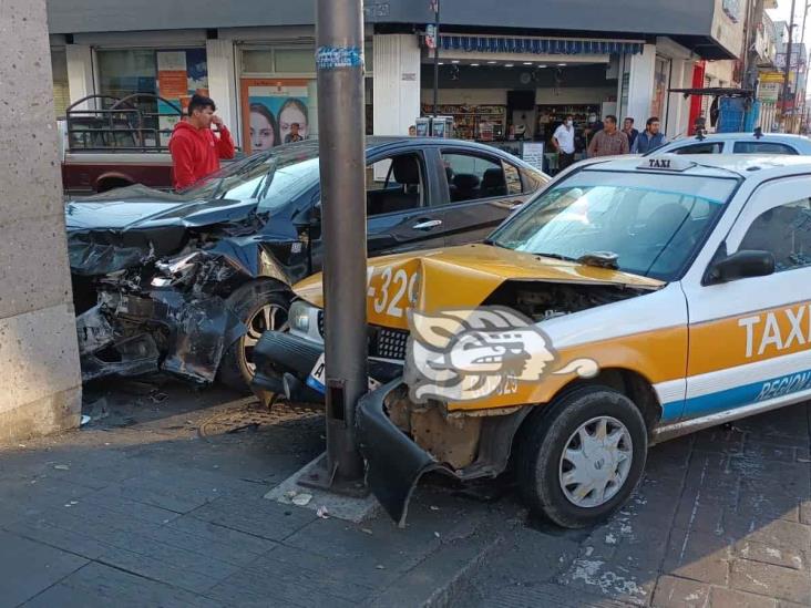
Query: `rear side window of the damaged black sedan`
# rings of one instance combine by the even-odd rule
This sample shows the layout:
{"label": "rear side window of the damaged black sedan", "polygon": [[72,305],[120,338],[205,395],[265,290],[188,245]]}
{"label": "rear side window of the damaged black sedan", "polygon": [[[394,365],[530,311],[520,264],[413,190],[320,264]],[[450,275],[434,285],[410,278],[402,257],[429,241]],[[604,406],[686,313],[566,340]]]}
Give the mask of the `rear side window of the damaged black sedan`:
{"label": "rear side window of the damaged black sedan", "polygon": [[[439,204],[507,196],[507,178],[500,161],[463,153],[442,154],[448,178],[448,198]],[[521,178],[519,177],[519,187]],[[514,186],[513,186],[514,187]]]}

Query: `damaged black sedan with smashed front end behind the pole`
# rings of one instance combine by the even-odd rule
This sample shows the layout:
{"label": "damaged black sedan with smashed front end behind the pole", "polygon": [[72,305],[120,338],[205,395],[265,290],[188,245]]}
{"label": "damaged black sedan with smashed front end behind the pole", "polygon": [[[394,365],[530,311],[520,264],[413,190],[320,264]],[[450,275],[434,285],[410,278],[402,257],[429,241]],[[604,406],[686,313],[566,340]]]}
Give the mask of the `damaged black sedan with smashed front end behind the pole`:
{"label": "damaged black sedan with smashed front end behind the pole", "polygon": [[[481,240],[547,177],[468,142],[370,137],[374,255]],[[178,194],[66,206],[83,380],[165,371],[247,390],[253,349],[322,264],[318,143],[235,163]]]}

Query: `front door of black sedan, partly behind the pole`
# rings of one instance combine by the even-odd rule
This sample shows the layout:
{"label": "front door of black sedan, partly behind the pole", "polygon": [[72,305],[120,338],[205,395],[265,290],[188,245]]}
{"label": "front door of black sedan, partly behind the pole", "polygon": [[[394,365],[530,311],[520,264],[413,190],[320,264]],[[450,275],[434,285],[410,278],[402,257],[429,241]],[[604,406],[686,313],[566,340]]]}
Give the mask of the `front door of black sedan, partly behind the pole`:
{"label": "front door of black sedan, partly behind the pole", "polygon": [[[367,250],[369,256],[444,245],[442,209],[428,206],[435,188],[424,151],[407,148],[369,158],[367,165]],[[312,271],[321,270],[320,226],[311,230]]]}

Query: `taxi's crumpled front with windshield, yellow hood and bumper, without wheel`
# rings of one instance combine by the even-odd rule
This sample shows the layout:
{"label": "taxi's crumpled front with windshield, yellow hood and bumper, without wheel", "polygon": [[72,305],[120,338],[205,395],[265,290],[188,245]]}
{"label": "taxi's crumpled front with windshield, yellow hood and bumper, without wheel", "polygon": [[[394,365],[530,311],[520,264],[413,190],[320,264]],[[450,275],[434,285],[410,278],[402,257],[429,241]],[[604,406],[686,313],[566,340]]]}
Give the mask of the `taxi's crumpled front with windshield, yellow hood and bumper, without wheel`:
{"label": "taxi's crumpled front with windshield, yellow hood and bumper, without wheel", "polygon": [[[503,472],[523,430],[555,419],[547,405],[575,387],[633,395],[648,435],[678,419],[688,354],[680,279],[740,182],[678,157],[597,161],[553,183],[485,245],[370,260],[370,336],[404,341],[399,374],[374,378],[369,367],[370,385],[384,385],[356,418],[368,484],[388,513],[403,523],[428,472]],[[296,292],[325,306],[320,277]],[[285,340],[297,348],[299,338]]]}

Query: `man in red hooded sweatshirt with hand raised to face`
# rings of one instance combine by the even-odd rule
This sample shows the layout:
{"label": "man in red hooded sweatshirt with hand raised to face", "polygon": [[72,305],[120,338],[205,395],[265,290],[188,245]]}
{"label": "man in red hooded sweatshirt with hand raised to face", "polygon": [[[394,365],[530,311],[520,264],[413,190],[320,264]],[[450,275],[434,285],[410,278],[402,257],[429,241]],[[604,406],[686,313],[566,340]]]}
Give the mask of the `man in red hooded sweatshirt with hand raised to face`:
{"label": "man in red hooded sweatshirt with hand raised to face", "polygon": [[[176,190],[218,171],[220,158],[234,158],[234,140],[223,118],[214,115],[216,110],[211,99],[194,95],[188,104],[188,118],[175,125],[170,152]],[[217,125],[216,135],[212,123]]]}

